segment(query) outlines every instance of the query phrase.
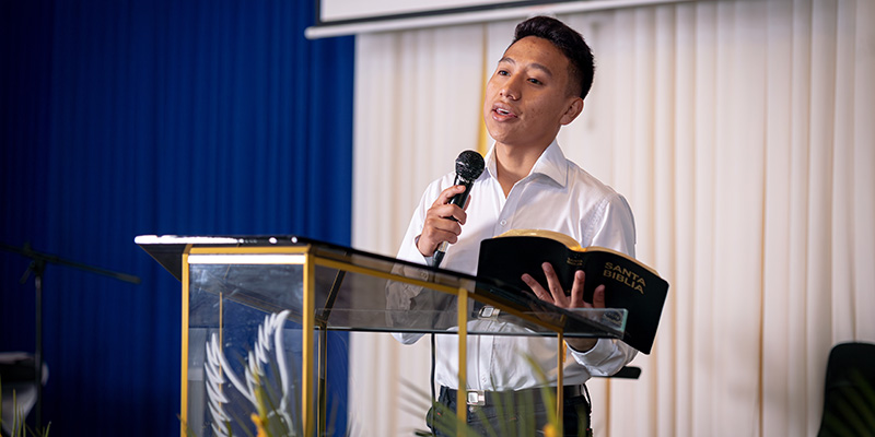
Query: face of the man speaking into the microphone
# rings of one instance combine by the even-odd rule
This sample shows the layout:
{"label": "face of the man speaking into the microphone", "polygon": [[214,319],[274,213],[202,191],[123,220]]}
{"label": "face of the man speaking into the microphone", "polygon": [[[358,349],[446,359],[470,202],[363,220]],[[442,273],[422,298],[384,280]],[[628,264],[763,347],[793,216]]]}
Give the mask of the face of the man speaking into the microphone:
{"label": "face of the man speaking into the microphone", "polygon": [[486,86],[489,134],[513,147],[549,145],[583,109],[569,80],[569,60],[550,42],[528,36],[514,43]]}

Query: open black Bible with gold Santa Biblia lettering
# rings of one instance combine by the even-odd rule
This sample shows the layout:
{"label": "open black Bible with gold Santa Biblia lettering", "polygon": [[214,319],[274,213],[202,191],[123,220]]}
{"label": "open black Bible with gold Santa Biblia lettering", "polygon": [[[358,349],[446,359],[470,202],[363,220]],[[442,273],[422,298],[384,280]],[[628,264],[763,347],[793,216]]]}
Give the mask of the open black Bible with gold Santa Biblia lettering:
{"label": "open black Bible with gold Santa Biblia lettering", "polygon": [[532,293],[521,276],[528,273],[547,288],[544,262],[552,264],[567,293],[571,293],[574,272],[583,270],[585,302],[592,303],[595,288],[605,285],[605,306],[629,311],[623,342],[650,354],[668,283],[627,255],[595,246],[583,248],[570,236],[551,231],[514,229],[480,243],[477,275]]}

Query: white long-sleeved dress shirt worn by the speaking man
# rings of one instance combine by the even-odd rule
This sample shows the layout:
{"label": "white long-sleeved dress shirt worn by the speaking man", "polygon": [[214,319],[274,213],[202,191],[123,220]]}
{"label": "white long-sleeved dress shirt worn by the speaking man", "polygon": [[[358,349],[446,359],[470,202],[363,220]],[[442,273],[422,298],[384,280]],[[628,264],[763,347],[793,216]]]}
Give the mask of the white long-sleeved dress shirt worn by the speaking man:
{"label": "white long-sleeved dress shirt worn by the speaking man", "polygon": [[[398,258],[428,263],[416,247],[422,233],[425,213],[441,191],[453,185],[455,173],[433,181],[425,189],[401,243]],[[497,178],[494,146],[486,156],[486,170],[470,191],[458,243],[450,246],[442,268],[476,274],[480,241],[510,229],[548,229],[567,234],[581,246],[602,246],[634,257],[634,221],[622,196],[602,184],[565,158],[553,141],[541,154],[528,176],[516,182],[508,197]],[[521,272],[522,274],[523,272]],[[546,284],[544,284],[546,287]],[[415,288],[389,296],[389,305],[409,308]],[[404,293],[407,293],[405,295]],[[474,331],[521,331],[522,328],[497,320],[471,320]],[[405,344],[422,334],[399,333]],[[458,338],[438,335],[435,380],[457,389]],[[529,355],[545,371],[548,385],[556,386],[556,338],[469,335],[468,378],[471,390],[520,390],[539,387],[537,374],[524,355]],[[619,340],[599,339],[596,346],[581,353],[567,347],[564,385],[580,385],[591,376],[616,373],[634,357],[637,351]]]}

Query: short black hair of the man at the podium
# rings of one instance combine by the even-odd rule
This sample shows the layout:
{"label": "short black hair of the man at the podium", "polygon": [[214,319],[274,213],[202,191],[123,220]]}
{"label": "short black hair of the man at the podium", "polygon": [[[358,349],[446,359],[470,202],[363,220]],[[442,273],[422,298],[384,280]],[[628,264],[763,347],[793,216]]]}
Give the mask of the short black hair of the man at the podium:
{"label": "short black hair of the man at the podium", "polygon": [[570,66],[569,76],[580,84],[581,98],[586,97],[593,86],[595,61],[583,36],[565,23],[549,16],[534,16],[517,24],[511,46],[527,36],[547,39],[565,55]]}

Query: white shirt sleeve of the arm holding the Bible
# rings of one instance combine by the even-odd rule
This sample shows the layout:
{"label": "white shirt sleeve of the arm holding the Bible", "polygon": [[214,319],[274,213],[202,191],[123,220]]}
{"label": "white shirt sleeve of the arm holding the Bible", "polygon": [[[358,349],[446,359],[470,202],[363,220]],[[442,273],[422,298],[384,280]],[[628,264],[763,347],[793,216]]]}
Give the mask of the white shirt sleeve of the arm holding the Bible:
{"label": "white shirt sleeve of the arm holding the Bible", "polygon": [[[606,247],[634,258],[635,223],[626,198],[617,193],[606,197],[599,212],[591,224],[592,246]],[[592,376],[614,375],[638,354],[632,346],[617,339],[598,339],[586,352],[569,350],[574,361],[586,367]]]}

